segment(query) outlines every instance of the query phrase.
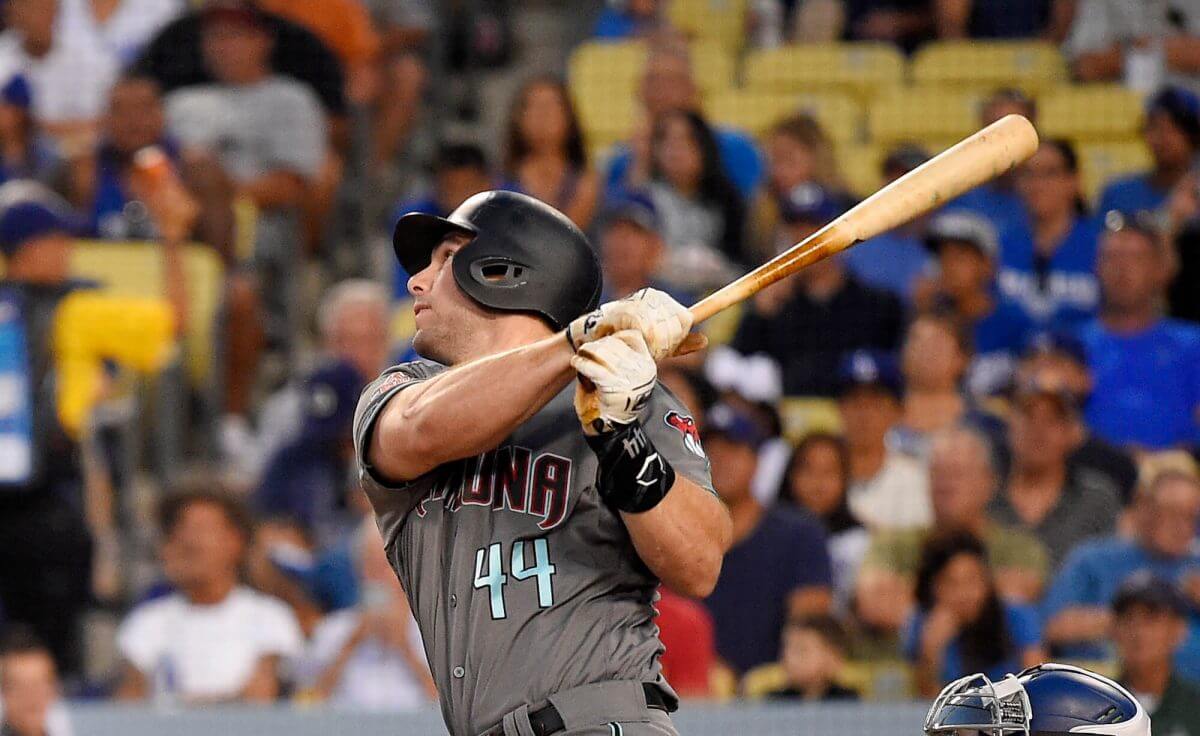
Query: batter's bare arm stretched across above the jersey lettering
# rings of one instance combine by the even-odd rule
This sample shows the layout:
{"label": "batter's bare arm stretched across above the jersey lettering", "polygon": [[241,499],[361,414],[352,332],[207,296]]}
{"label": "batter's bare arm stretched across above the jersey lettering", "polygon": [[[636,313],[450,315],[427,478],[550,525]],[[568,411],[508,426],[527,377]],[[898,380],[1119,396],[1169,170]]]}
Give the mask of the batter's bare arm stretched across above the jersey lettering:
{"label": "batter's bare arm stretched across above the jersey lettering", "polygon": [[575,377],[562,335],[473,360],[404,389],[379,415],[372,465],[410,480],[498,445]]}

